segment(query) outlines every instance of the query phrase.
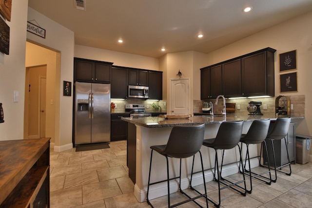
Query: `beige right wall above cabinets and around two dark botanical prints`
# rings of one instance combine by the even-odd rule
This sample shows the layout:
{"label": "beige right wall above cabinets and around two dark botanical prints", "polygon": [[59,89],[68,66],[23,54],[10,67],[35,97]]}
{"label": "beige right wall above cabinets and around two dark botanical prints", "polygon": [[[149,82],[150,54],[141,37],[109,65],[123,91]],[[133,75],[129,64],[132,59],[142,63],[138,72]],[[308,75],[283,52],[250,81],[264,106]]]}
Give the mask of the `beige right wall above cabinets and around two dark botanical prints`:
{"label": "beige right wall above cabinets and around two dark botanical prints", "polygon": [[[296,133],[312,135],[312,12],[287,20],[208,54],[207,66],[271,47],[275,52],[275,96],[305,95],[305,119],[297,123]],[[280,93],[279,54],[297,50],[297,92]],[[200,77],[197,77],[199,80]],[[200,97],[199,97],[200,99]]]}

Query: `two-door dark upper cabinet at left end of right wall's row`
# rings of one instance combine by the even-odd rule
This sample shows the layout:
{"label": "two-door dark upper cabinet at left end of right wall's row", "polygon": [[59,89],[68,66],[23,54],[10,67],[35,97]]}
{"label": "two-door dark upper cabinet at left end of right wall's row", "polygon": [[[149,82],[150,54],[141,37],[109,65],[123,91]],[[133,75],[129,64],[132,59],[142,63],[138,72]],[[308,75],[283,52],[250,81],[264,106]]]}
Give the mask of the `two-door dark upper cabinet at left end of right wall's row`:
{"label": "two-door dark upper cabinet at left end of right wall's row", "polygon": [[222,94],[222,65],[206,67],[200,71],[200,97],[202,100]]}

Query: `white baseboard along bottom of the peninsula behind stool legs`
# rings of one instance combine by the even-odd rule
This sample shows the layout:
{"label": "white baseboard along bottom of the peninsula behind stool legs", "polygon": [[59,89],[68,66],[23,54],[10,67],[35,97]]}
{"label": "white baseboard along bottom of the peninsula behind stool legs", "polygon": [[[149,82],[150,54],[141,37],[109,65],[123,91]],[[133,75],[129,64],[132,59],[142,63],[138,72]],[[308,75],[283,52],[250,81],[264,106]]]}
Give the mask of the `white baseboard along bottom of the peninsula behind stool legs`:
{"label": "white baseboard along bottom of the peninsula behind stool legs", "polygon": [[[251,168],[255,168],[259,166],[259,160],[257,158],[251,159],[250,160],[250,166]],[[248,164],[248,163],[247,163]],[[237,164],[232,164],[226,167],[222,168],[222,176],[228,176],[228,175],[233,175],[238,172],[238,163]],[[214,179],[213,176],[213,170],[212,171],[205,171],[205,181],[206,183],[209,181],[212,181]],[[190,187],[190,180],[191,178],[181,178],[181,189],[188,189]],[[203,179],[202,179],[202,173],[196,173],[193,175],[192,178],[192,186],[198,186],[200,184],[203,184]],[[178,182],[176,180],[172,180],[169,183],[170,186],[170,193],[174,193],[178,191]],[[147,192],[147,187],[146,189],[139,189],[137,187],[137,184],[135,185],[135,197],[137,198],[137,201],[139,202],[144,202],[146,201],[146,192]],[[150,200],[165,196],[167,195],[167,182],[159,183],[157,185],[150,186],[149,189],[149,196],[148,198]]]}

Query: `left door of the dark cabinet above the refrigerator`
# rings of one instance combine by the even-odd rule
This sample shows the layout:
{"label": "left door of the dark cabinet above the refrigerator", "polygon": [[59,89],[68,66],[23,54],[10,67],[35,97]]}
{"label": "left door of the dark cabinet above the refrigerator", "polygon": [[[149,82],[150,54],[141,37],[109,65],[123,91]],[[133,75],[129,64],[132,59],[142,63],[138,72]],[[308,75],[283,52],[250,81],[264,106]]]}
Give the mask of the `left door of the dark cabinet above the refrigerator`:
{"label": "left door of the dark cabinet above the refrigerator", "polygon": [[77,81],[93,81],[94,62],[75,59],[74,72]]}

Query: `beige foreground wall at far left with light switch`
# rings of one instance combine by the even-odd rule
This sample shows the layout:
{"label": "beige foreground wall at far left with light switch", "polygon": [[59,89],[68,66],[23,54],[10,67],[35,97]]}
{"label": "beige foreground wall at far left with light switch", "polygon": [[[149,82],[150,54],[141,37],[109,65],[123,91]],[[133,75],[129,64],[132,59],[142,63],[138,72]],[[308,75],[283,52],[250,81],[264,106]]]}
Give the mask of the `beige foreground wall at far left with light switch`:
{"label": "beige foreground wall at far left with light switch", "polygon": [[[9,55],[0,53],[0,103],[4,123],[0,123],[0,140],[23,138],[25,47],[28,0],[12,3]],[[19,92],[19,102],[13,102],[13,92]]]}

